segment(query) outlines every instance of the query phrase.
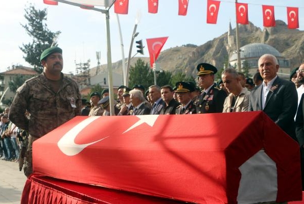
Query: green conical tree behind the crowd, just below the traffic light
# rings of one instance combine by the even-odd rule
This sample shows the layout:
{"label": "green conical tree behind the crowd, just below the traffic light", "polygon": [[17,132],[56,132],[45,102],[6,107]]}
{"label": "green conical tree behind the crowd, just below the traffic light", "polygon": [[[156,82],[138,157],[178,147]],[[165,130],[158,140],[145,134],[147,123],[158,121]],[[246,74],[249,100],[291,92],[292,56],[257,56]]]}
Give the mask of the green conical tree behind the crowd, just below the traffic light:
{"label": "green conical tree behind the crowd, just below the traffic light", "polygon": [[138,59],[135,66],[130,67],[129,71],[129,87],[133,87],[135,84],[141,84],[146,89],[154,84],[152,69],[142,59]]}

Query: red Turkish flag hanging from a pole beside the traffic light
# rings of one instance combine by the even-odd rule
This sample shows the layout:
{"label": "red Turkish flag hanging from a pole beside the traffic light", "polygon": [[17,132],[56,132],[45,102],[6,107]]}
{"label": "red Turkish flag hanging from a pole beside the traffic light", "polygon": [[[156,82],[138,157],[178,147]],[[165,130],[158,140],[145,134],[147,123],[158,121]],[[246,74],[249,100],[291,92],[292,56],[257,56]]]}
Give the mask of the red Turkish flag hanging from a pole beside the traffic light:
{"label": "red Turkish flag hanging from a pole beside the traffic light", "polygon": [[162,37],[162,38],[150,38],[147,39],[147,46],[149,50],[150,55],[150,66],[153,67],[153,63],[157,60],[157,57],[160,53],[160,50],[162,46],[167,41],[168,37]]}

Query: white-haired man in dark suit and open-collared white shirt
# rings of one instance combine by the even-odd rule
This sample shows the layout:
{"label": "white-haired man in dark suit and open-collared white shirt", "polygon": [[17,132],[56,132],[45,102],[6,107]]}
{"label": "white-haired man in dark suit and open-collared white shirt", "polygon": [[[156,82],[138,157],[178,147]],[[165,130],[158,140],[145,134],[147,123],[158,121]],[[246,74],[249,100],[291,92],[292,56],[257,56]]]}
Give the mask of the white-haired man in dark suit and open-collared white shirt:
{"label": "white-haired man in dark suit and open-collared white shirt", "polygon": [[294,116],[297,111],[297,91],[290,81],[280,79],[277,59],[265,54],[259,59],[263,83],[251,90],[249,111],[263,110],[283,131],[296,140]]}

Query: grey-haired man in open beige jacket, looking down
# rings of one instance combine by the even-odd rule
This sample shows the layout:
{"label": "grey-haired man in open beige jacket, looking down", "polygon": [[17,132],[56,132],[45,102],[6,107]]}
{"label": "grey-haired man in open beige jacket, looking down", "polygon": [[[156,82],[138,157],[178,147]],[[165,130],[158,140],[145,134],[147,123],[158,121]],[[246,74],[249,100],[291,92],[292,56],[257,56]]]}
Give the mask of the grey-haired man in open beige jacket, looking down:
{"label": "grey-haired man in open beige jacket, looking down", "polygon": [[222,80],[229,92],[224,101],[223,113],[248,111],[250,91],[242,87],[238,72],[232,68],[225,69]]}

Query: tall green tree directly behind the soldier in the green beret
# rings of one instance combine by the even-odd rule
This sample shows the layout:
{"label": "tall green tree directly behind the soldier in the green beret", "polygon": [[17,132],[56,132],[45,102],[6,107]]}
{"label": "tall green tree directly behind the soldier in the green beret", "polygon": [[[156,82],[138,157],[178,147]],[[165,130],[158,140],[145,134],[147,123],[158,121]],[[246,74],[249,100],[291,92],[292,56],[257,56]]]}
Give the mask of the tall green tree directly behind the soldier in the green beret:
{"label": "tall green tree directly behind the soldier in the green beret", "polygon": [[[41,73],[43,67],[40,62],[40,55],[44,49],[51,47],[53,41],[61,33],[57,31],[55,33],[48,29],[46,21],[46,15],[48,14],[46,9],[37,10],[34,5],[30,4],[29,7],[25,8],[26,14],[24,15],[28,21],[28,24],[21,24],[26,30],[28,35],[33,38],[32,42],[28,44],[22,43],[22,47],[19,47],[25,54],[23,57],[29,64],[34,66],[34,69]],[[57,43],[53,44],[54,46]]]}

